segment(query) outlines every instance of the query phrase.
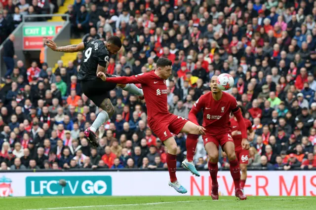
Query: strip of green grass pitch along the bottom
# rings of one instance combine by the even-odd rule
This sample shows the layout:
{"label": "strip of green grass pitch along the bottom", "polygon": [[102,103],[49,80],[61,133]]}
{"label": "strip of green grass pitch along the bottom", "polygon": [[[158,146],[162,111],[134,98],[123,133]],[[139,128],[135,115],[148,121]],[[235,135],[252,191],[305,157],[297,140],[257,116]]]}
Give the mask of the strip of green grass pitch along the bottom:
{"label": "strip of green grass pitch along the bottom", "polygon": [[[151,204],[156,203],[156,204]],[[119,206],[121,205],[121,206]],[[135,197],[20,197],[0,198],[0,210],[315,210],[315,197],[249,197],[238,201],[221,196],[135,196]]]}

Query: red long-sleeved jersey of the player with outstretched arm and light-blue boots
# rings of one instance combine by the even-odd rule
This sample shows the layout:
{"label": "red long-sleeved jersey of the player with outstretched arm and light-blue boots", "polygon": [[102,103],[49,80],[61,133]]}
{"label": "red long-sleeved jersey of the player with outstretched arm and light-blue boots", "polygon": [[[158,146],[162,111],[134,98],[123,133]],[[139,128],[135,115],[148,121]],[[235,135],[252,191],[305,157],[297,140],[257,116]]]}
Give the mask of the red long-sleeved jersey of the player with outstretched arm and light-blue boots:
{"label": "red long-sleeved jersey of the player with outstretched arm and light-blue boots", "polygon": [[108,77],[106,81],[119,84],[142,84],[149,121],[164,118],[169,114],[167,85],[164,79],[156,75],[155,70],[134,76]]}

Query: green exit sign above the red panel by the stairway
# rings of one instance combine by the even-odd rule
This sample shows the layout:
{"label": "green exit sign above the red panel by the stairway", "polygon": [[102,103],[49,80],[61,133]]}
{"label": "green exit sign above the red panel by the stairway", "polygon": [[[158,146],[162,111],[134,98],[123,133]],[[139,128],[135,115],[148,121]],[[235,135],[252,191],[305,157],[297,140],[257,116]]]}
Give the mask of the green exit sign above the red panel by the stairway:
{"label": "green exit sign above the red panel by the stairway", "polygon": [[55,36],[61,26],[24,27],[23,36]]}

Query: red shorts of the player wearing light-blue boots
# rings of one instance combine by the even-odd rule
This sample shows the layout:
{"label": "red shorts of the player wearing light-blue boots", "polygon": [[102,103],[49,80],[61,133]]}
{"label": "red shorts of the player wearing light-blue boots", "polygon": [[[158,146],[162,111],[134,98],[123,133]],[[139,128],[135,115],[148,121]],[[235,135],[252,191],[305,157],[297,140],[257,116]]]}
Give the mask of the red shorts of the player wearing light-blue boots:
{"label": "red shorts of the player wearing light-blue boots", "polygon": [[184,125],[188,122],[187,119],[174,114],[169,114],[161,118],[161,120],[149,120],[150,129],[161,140],[167,140],[172,137],[172,134],[179,134]]}

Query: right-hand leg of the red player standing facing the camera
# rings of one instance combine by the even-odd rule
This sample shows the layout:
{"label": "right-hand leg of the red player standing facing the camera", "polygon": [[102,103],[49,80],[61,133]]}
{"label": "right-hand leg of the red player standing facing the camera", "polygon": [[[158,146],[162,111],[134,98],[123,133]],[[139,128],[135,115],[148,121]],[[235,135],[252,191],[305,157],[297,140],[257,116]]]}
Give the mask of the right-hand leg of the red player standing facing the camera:
{"label": "right-hand leg of the red player standing facing the camera", "polygon": [[230,134],[223,134],[221,137],[221,145],[224,151],[227,154],[231,175],[235,184],[235,195],[240,200],[246,200],[247,197],[243,195],[243,192],[240,189],[240,166],[235,153],[235,144],[233,138]]}

